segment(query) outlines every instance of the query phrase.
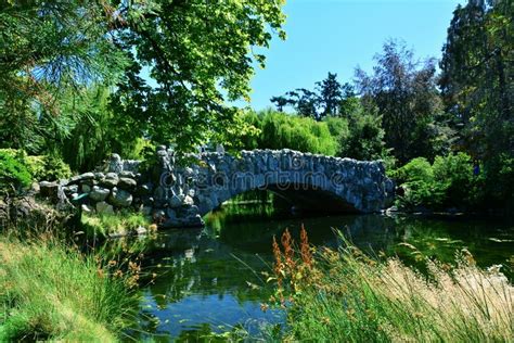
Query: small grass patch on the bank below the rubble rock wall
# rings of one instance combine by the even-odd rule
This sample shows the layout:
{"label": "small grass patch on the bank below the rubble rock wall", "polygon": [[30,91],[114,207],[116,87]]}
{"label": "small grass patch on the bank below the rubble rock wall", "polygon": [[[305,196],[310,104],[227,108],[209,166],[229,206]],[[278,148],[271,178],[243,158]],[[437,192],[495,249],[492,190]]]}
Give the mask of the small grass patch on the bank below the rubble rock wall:
{"label": "small grass patch on the bank below the rubble rock wall", "polygon": [[143,214],[136,212],[101,215],[82,213],[80,221],[88,237],[127,236],[133,233],[139,227],[155,229],[155,226]]}

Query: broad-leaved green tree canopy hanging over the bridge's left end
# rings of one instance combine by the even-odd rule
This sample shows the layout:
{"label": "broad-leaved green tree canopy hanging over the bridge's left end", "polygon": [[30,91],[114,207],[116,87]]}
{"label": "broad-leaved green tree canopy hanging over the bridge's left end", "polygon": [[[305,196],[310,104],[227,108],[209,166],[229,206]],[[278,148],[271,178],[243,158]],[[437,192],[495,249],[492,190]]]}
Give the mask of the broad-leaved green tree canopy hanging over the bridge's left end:
{"label": "broad-leaved green tree canopy hanging over the bridge's left end", "polygon": [[[252,48],[267,48],[272,33],[285,38],[283,3],[120,2],[118,34],[132,63],[113,97],[115,113],[180,152],[227,130],[237,110],[224,100],[248,99],[253,62],[265,65]],[[143,66],[157,87],[139,76]]]}

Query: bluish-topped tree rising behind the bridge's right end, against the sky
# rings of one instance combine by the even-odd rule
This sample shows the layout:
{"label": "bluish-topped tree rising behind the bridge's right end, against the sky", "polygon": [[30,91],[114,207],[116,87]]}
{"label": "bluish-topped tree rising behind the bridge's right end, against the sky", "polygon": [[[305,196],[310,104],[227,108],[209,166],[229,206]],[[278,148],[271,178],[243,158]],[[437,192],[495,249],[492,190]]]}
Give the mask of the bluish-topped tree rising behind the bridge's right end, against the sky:
{"label": "bluish-topped tree rising behind the bridge's right end, against the sky", "polygon": [[387,148],[394,149],[402,163],[420,155],[434,155],[425,150],[432,144],[420,147],[420,138],[431,137],[428,130],[438,125],[434,119],[441,112],[435,61],[417,62],[404,43],[394,40],[384,45],[383,53],[375,60],[373,75],[357,69],[357,86],[368,111],[378,109]]}

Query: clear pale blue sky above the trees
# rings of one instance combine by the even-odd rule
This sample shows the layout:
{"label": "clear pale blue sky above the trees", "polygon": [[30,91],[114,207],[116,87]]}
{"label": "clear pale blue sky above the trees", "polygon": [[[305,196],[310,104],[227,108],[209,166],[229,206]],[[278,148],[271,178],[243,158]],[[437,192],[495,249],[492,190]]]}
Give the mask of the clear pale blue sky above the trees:
{"label": "clear pale blue sky above the trees", "polygon": [[355,67],[373,67],[388,38],[406,41],[417,58],[440,58],[452,12],[463,0],[288,0],[287,39],[275,38],[265,53],[267,66],[252,81],[252,107],[295,88],[313,88],[327,72],[340,81]]}

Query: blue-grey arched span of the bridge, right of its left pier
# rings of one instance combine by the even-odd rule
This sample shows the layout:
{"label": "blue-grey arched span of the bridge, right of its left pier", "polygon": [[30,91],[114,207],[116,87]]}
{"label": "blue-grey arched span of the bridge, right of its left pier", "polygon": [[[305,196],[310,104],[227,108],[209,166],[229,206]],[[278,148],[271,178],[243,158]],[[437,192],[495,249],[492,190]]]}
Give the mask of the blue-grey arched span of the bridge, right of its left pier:
{"label": "blue-grey arched span of the bridge, right of its left pier", "polygon": [[[382,162],[361,162],[291,150],[244,151],[239,157],[207,153],[198,156],[208,165],[207,185],[195,201],[203,216],[222,202],[254,189],[265,189],[304,209],[376,212],[388,196]],[[210,174],[209,174],[210,173]],[[222,175],[224,182],[216,181]],[[210,180],[209,180],[210,178]]]}

